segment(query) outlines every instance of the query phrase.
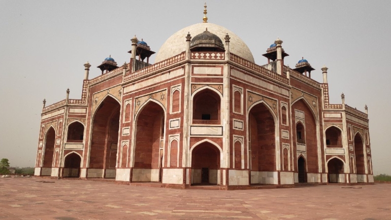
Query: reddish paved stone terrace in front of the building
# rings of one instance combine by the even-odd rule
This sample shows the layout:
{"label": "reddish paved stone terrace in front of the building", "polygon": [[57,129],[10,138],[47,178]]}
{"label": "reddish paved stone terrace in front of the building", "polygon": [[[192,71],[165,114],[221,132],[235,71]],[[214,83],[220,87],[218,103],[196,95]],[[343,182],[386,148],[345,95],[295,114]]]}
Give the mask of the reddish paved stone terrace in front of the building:
{"label": "reddish paved stone terrace in front of the building", "polygon": [[203,218],[391,219],[391,184],[215,191],[0,178],[0,219]]}

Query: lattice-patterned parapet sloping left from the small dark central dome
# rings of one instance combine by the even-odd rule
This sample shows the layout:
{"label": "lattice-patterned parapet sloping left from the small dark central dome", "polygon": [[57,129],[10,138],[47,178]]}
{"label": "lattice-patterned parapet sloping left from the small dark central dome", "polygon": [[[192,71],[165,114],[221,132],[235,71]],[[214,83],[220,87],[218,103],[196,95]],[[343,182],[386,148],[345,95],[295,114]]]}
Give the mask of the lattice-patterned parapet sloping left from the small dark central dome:
{"label": "lattice-patterned parapet sloping left from the small dark central dome", "polygon": [[186,57],[185,52],[183,51],[182,53],[180,53],[178,55],[175,55],[175,56],[170,57],[168,59],[162,60],[158,63],[149,65],[149,66],[142,68],[140,70],[137,70],[135,72],[131,72],[130,74],[125,75],[125,78],[123,81],[126,82],[126,81],[132,80],[134,78],[149,74],[149,72],[152,72],[152,71],[155,71],[155,70],[160,69],[162,67],[166,67],[166,66],[172,65],[174,63],[177,63],[179,61],[182,61],[185,59],[185,57]]}

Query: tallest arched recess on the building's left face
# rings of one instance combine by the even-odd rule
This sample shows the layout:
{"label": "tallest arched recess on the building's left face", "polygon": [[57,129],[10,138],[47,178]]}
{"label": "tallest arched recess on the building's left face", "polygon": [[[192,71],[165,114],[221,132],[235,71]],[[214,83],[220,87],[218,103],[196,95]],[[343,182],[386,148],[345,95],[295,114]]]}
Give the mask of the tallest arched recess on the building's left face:
{"label": "tallest arched recess on the building's left face", "polygon": [[115,178],[120,104],[107,96],[95,112],[87,177]]}

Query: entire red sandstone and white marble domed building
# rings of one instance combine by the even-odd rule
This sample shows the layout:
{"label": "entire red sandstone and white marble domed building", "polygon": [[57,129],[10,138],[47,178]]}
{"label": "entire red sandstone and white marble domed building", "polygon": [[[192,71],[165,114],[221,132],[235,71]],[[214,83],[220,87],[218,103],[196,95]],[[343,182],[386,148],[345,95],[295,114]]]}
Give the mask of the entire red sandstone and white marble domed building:
{"label": "entire red sandstone and white marble domed building", "polygon": [[373,182],[367,107],[343,94],[330,104],[328,68],[314,81],[307,60],[284,65],[281,44],[257,65],[237,35],[204,22],[173,34],[154,64],[136,37],[129,63],[106,58],[94,79],[86,63],[81,99],[44,101],[35,175],[220,189]]}

